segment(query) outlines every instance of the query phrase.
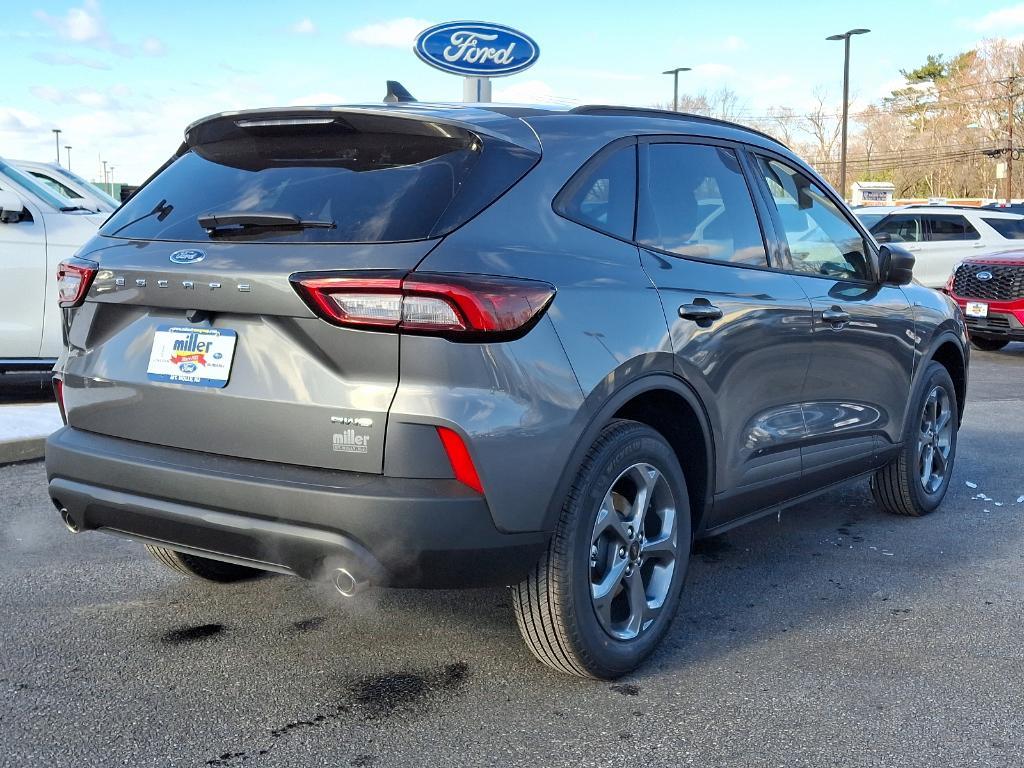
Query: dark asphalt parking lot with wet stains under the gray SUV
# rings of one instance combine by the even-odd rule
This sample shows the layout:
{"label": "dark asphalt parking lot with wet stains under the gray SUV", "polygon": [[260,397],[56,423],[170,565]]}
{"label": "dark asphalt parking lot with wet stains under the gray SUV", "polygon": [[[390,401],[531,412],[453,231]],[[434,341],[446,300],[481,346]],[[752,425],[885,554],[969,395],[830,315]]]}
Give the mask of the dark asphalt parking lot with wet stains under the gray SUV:
{"label": "dark asphalt parking lot with wet stains under the gray SUV", "polygon": [[1022,765],[1022,374],[974,353],[936,514],[862,483],[699,544],[615,684],[537,663],[502,590],[190,582],[0,467],[0,765]]}

